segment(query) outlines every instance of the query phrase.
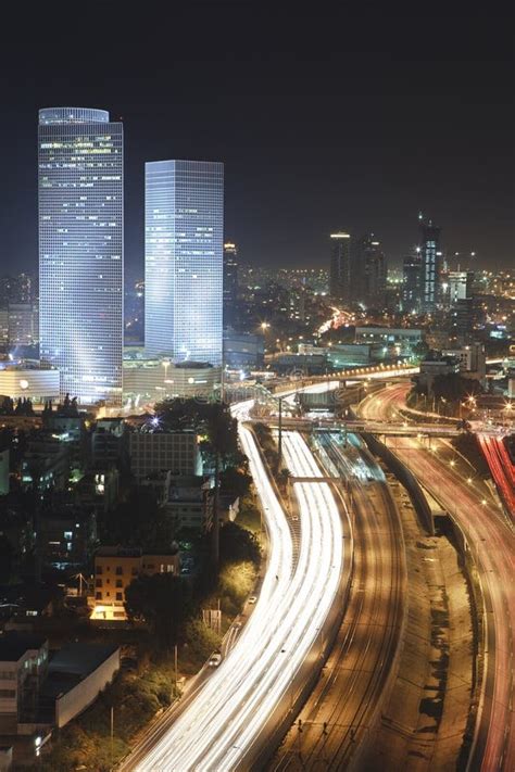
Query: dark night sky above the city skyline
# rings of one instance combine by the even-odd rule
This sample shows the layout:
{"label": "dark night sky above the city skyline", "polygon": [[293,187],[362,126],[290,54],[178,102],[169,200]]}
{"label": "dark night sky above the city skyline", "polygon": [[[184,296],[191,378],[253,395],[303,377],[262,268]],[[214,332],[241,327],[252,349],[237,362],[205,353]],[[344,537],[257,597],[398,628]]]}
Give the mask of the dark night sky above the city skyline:
{"label": "dark night sky above the city skyline", "polygon": [[448,252],[510,267],[507,4],[382,5],[89,0],[3,15],[0,270],[36,270],[37,111],[56,105],[123,116],[129,278],[143,274],[143,162],[173,157],[225,162],[226,237],[254,265],[324,265],[340,227],[374,231],[399,264],[422,210]]}

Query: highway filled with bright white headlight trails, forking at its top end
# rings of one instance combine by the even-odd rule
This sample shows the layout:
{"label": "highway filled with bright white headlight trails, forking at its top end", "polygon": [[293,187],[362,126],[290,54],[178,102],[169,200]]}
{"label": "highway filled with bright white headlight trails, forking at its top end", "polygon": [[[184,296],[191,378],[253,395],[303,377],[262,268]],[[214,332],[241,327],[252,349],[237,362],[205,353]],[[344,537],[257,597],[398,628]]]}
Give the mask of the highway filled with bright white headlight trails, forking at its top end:
{"label": "highway filled with bright white headlight trails, forking at its top end", "polygon": [[[237,409],[243,452],[265,515],[268,565],[258,603],[237,644],[210,678],[177,709],[164,734],[151,733],[122,769],[138,772],[248,769],[266,747],[264,727],[290,707],[290,689],[309,660],[332,606],[343,568],[340,514],[326,483],[296,483],[301,541],[293,565],[291,532],[267,478],[251,431],[248,406]],[[302,438],[284,442],[285,458],[299,477],[321,477]]]}

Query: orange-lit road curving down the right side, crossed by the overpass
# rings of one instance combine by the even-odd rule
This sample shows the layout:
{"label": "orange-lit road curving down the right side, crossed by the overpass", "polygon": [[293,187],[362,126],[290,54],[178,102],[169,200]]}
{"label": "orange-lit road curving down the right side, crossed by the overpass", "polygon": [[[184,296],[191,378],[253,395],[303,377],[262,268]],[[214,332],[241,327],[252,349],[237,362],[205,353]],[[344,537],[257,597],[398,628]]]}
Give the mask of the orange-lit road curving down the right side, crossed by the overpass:
{"label": "orange-lit road curving down the right side, crossed by the overpass", "polygon": [[[407,387],[394,385],[367,396],[360,406],[366,419],[391,420],[402,406]],[[444,460],[448,446],[431,440],[431,452],[415,438],[388,441],[391,450],[417,476],[466,534],[475,557],[486,604],[486,662],[472,769],[483,772],[515,769],[513,713],[513,644],[515,593],[513,591],[515,540],[510,523],[491,498],[481,498]]]}

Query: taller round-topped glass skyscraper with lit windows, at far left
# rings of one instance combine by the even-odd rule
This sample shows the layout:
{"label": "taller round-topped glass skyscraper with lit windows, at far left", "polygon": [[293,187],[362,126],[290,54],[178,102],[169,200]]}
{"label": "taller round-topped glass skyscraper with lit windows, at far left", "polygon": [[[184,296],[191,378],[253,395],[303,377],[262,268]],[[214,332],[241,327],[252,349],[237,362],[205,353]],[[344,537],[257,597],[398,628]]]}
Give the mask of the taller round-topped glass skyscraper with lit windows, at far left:
{"label": "taller round-topped glass skyscraper with lit windows, at far left", "polygon": [[39,111],[42,362],[80,403],[122,401],[123,125],[105,110]]}

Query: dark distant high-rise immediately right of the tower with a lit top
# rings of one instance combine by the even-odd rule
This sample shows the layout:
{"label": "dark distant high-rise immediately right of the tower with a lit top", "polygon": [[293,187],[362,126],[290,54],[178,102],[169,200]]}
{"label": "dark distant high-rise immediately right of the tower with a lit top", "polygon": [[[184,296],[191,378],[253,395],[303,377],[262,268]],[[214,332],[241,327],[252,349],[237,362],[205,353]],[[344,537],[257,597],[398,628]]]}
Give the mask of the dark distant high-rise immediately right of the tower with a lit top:
{"label": "dark distant high-rise immediately right of the tower with a lit top", "polygon": [[353,246],[351,260],[353,300],[367,307],[382,307],[387,283],[387,263],[380,242],[367,233]]}

